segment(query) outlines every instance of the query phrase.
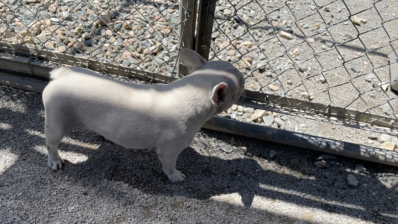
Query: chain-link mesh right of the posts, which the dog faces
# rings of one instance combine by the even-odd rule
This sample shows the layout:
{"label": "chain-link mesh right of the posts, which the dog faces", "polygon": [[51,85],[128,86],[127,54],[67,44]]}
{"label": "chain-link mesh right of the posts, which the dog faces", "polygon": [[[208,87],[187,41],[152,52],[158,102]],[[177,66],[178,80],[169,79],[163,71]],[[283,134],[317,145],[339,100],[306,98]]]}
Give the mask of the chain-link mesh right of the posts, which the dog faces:
{"label": "chain-link mesh right of the posts, which the dog faces", "polygon": [[397,8],[396,0],[213,0],[211,41],[201,45],[247,74],[248,98],[397,119],[387,57],[398,47]]}

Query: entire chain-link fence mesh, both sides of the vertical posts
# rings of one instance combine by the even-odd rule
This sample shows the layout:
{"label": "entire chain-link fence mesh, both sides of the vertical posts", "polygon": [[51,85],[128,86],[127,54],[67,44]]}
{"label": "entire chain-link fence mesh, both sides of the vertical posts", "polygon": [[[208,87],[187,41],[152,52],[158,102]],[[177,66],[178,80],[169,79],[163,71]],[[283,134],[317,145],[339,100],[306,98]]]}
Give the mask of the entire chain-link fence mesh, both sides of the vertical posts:
{"label": "entire chain-link fence mesh, both sides of the vertical posts", "polygon": [[29,65],[46,59],[170,82],[181,73],[178,50],[191,48],[241,69],[246,101],[398,126],[397,92],[389,85],[389,63],[398,62],[387,57],[398,47],[397,1],[197,6],[197,0],[0,0],[0,49],[27,54]]}

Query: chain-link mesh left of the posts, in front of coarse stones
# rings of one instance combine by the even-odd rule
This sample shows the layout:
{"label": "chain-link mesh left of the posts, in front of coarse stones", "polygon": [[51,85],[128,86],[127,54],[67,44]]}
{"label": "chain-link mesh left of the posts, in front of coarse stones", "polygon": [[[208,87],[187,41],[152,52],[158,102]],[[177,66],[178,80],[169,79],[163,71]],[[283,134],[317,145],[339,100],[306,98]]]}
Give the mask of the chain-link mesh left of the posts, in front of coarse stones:
{"label": "chain-link mesh left of the posts, in front of coarse stones", "polygon": [[3,47],[50,51],[58,63],[176,74],[184,23],[176,0],[0,0],[0,7]]}

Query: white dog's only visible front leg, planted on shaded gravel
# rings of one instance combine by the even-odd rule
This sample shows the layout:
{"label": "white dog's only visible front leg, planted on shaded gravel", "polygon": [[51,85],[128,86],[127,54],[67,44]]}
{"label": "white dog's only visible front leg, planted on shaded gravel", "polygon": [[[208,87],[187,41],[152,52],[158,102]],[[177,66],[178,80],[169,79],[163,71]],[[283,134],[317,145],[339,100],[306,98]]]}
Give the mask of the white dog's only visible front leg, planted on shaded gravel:
{"label": "white dog's only visible front leg, planted on shaded gravel", "polygon": [[185,180],[185,175],[175,168],[177,157],[184,149],[167,149],[157,148],[156,152],[162,163],[163,171],[173,183],[182,182]]}

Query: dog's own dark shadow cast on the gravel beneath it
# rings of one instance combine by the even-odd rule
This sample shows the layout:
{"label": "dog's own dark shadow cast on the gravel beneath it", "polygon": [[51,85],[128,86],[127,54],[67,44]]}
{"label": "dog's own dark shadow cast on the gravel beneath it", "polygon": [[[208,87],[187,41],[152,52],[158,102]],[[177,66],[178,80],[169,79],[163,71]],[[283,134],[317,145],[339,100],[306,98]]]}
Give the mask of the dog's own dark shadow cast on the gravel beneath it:
{"label": "dog's own dark shadow cast on the gravel beneath it", "polygon": [[[86,149],[62,143],[59,146],[60,149],[64,147],[89,156],[86,161],[75,164],[64,157],[65,175],[80,174],[94,185],[100,178],[106,181],[124,182],[150,194],[181,195],[196,199],[239,193],[242,197],[241,203],[247,207],[250,207],[255,193],[258,192],[258,179],[262,173],[262,168],[252,158],[225,160],[216,156],[201,155],[189,147],[177,160],[177,170],[183,172],[187,178],[181,183],[172,183],[164,174],[155,150],[125,149],[106,141],[103,141],[97,152],[85,153]],[[109,150],[119,152],[107,153]],[[96,169],[97,176],[92,175],[93,172],[90,171],[92,169]],[[88,173],[90,175],[86,175]]]}

